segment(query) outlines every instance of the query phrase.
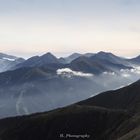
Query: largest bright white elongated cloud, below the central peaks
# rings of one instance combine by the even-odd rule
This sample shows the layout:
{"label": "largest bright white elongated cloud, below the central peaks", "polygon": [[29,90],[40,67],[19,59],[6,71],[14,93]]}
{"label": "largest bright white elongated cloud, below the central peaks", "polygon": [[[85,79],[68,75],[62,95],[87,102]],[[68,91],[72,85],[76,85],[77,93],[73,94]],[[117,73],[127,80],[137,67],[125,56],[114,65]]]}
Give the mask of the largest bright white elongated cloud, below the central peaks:
{"label": "largest bright white elongated cloud, below the central peaks", "polygon": [[66,76],[68,78],[71,78],[72,76],[85,77],[85,78],[93,77],[93,74],[91,74],[91,73],[83,73],[80,71],[73,71],[70,68],[58,69],[57,74]]}

